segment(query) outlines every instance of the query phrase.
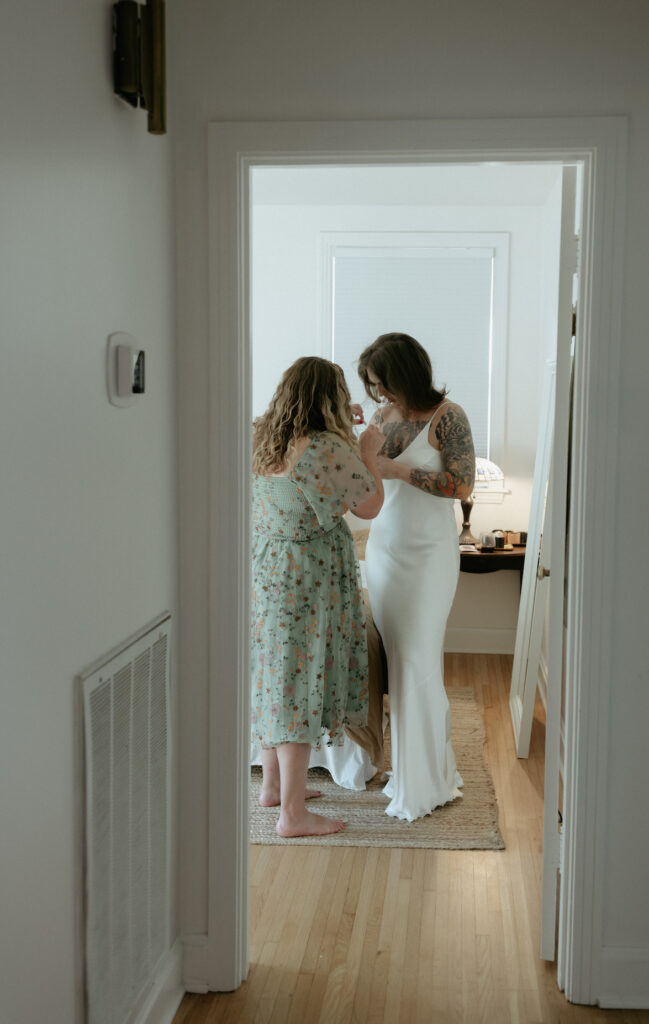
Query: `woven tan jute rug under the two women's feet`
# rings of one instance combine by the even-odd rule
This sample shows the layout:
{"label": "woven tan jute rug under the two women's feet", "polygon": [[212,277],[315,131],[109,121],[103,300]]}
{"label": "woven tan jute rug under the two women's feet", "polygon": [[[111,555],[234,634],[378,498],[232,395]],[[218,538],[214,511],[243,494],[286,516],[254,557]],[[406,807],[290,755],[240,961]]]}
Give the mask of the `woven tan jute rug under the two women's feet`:
{"label": "woven tan jute rug under the two women's feet", "polygon": [[[483,756],[484,726],[470,687],[447,687],[452,722],[451,740],[464,796],[417,821],[400,821],[385,814],[388,800],[380,777],[364,793],[336,785],[326,768],[310,768],[309,785],[322,791],[310,805],[318,814],[342,818],[345,828],[332,836],[280,839],[275,833],[277,808],[260,807],[261,768],[251,769],[250,841],[269,845],[398,846],[431,850],[503,850],[493,782]],[[386,735],[389,768],[389,730]]]}

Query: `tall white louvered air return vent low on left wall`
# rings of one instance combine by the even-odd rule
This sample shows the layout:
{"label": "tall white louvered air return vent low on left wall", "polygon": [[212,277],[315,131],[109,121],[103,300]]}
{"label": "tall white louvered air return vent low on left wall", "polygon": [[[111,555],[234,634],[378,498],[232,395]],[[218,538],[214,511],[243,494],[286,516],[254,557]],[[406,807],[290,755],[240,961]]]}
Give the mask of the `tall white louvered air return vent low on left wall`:
{"label": "tall white louvered air return vent low on left wall", "polygon": [[169,949],[170,628],[81,677],[88,1024],[127,1024]]}

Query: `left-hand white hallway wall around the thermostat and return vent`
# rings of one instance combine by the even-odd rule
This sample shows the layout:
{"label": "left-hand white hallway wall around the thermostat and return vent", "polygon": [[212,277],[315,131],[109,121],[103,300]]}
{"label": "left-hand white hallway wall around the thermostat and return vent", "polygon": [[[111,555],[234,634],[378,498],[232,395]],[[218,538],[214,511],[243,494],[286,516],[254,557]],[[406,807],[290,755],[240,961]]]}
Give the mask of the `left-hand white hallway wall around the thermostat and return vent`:
{"label": "left-hand white hallway wall around the thermostat and return vent", "polygon": [[[77,673],[176,611],[170,145],[111,84],[111,5],[3,5],[0,1018],[81,1019]],[[147,394],[105,392],[109,334]]]}

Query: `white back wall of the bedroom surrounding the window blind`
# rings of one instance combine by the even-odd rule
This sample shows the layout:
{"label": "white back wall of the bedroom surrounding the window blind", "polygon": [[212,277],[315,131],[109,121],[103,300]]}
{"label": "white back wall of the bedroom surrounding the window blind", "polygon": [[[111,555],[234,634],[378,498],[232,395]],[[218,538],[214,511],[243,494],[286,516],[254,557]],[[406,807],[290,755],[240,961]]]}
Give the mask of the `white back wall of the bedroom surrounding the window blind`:
{"label": "white back wall of the bedroom surrounding the window blind", "polygon": [[[418,176],[422,169],[415,169]],[[438,171],[436,175],[435,171]],[[511,494],[502,504],[474,506],[471,523],[474,536],[494,528],[526,530],[529,522],[531,482],[537,440],[540,390],[548,355],[549,334],[556,330],[556,291],[558,281],[558,224],[560,189],[553,187],[559,175],[546,169],[546,193],[539,189],[539,169],[529,170],[527,191],[535,195],[535,205],[523,205],[524,169],[516,182],[503,174],[501,204],[476,205],[481,191],[497,196],[494,168],[463,168],[466,205],[460,205],[461,189],[453,188],[453,205],[336,205],[332,193],[344,194],[344,178],[337,169],[329,188],[324,172],[315,176],[322,189],[309,205],[301,202],[270,204],[272,194],[282,196],[278,170],[271,171],[272,183],[263,186],[264,202],[253,203],[252,210],[252,331],[253,331],[253,414],[266,408],[284,370],[300,355],[329,355],[321,347],[320,262],[321,232],[324,231],[493,231],[510,237],[507,334],[509,336],[506,383],[505,458],[500,459]],[[350,172],[355,182],[357,171]],[[429,170],[430,194],[443,195],[435,186],[436,177],[446,185],[447,169]],[[255,173],[255,184],[265,170]],[[376,172],[365,172],[372,193]],[[403,190],[407,191],[407,171]],[[488,189],[480,184],[488,179]],[[312,176],[309,169],[305,175]],[[379,172],[379,176],[380,172]],[[457,174],[463,177],[462,174]],[[299,186],[297,172],[287,177]],[[447,185],[446,185],[447,187]],[[260,188],[253,188],[253,195]],[[302,188],[307,193],[307,185]],[[304,198],[300,196],[299,198]],[[558,201],[557,201],[558,196]],[[374,198],[374,197],[373,197]],[[515,201],[517,205],[514,205]],[[442,201],[440,201],[442,202]],[[507,205],[505,205],[507,203]],[[509,204],[512,205],[509,205]],[[457,204],[457,205],[456,205]],[[554,229],[554,231],[553,231]],[[547,287],[544,287],[544,284]],[[553,288],[554,285],[554,295]],[[554,304],[553,304],[554,299]],[[372,338],[359,341],[360,348]],[[433,368],[434,369],[434,368]],[[458,381],[444,381],[453,396]],[[457,505],[459,526],[462,510]],[[358,524],[357,524],[358,525]],[[359,524],[364,526],[366,524]],[[519,573],[496,572],[484,575],[462,573],[448,621],[447,650],[496,651],[513,653],[519,599]]]}

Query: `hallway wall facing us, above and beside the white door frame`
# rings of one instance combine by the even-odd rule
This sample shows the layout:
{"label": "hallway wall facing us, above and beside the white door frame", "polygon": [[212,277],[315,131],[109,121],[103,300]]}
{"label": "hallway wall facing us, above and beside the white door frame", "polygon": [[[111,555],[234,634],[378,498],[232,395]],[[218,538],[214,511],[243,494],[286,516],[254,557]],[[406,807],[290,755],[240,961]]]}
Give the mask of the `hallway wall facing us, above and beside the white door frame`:
{"label": "hallway wall facing us, above and beside the white door frame", "polygon": [[[632,544],[649,485],[649,65],[645,0],[518,0],[464,4],[391,0],[269,5],[186,0],[170,11],[177,147],[180,465],[183,606],[183,926],[201,931],[206,908],[207,342],[206,125],[210,120],[505,118],[625,115],[626,181],[619,450],[602,486],[619,495],[614,546],[616,666],[606,736],[609,803],[598,849],[606,910],[597,967],[649,958],[646,722],[646,580],[649,550]],[[180,119],[180,115],[182,115]],[[595,415],[596,411],[593,411]],[[597,552],[593,553],[597,557]],[[228,684],[224,681],[223,685]],[[613,950],[611,953],[610,950]],[[647,972],[644,972],[646,977]],[[639,973],[609,974],[609,993],[647,998]],[[634,989],[634,985],[636,988]]]}

